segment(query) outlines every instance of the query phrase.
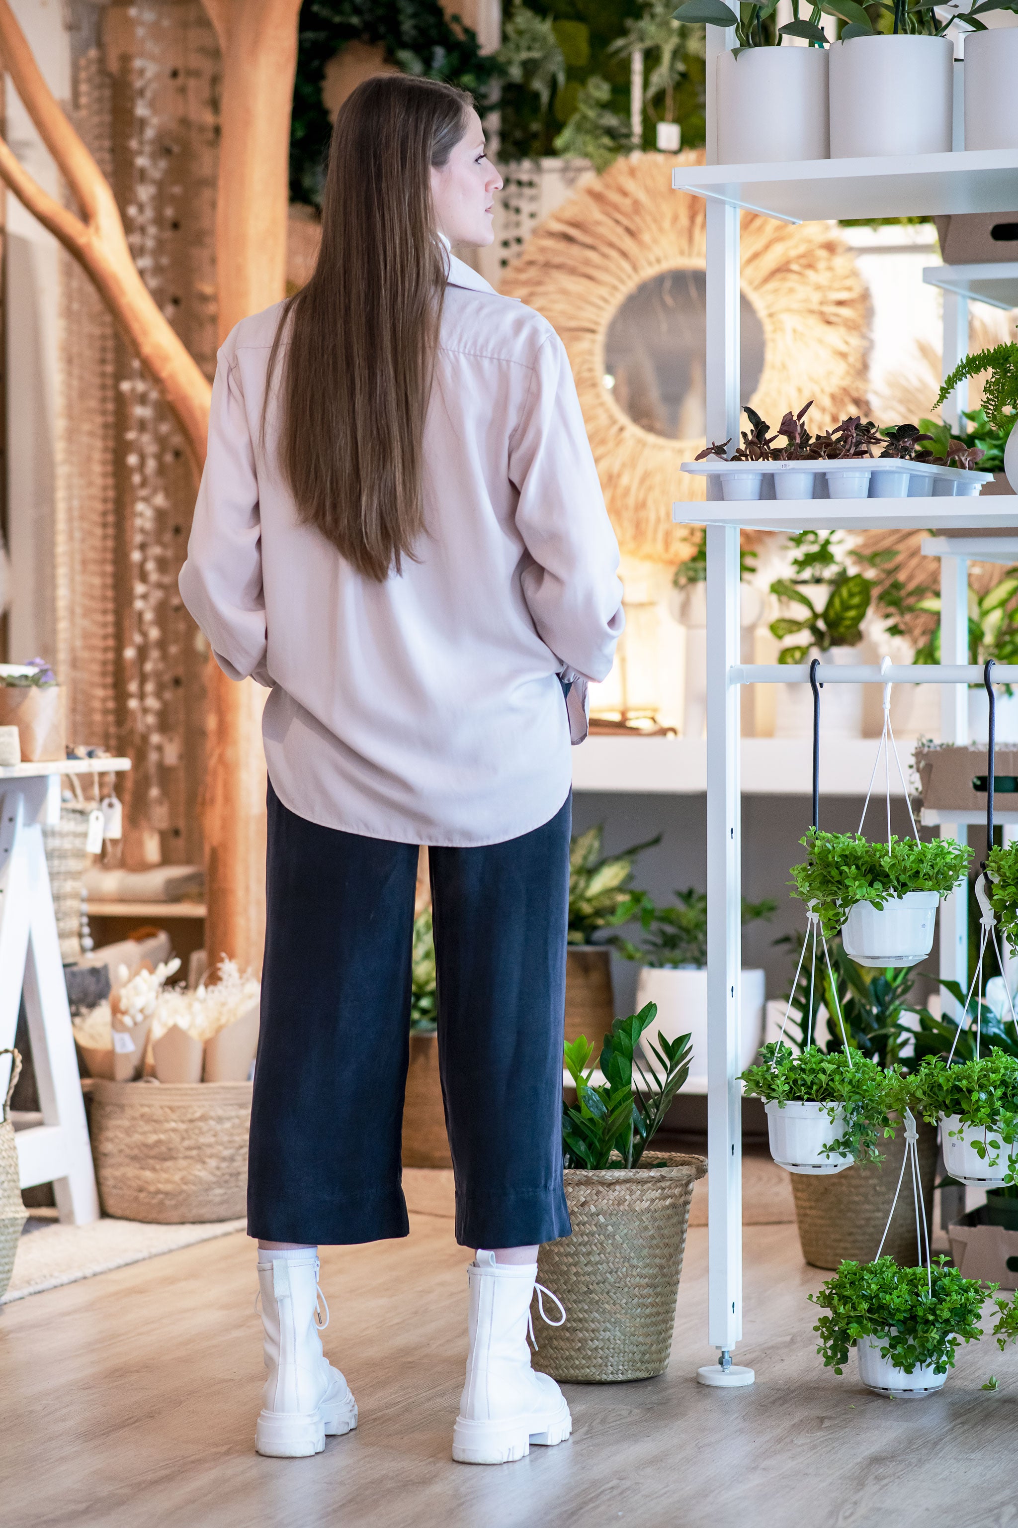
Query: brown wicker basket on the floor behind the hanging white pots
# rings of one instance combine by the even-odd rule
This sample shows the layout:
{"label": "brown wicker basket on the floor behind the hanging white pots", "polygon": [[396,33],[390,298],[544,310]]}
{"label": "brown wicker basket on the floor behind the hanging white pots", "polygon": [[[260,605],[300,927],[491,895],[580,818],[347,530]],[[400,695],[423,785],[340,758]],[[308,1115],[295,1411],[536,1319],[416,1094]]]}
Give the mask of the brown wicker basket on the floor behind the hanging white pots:
{"label": "brown wicker basket on the floor behind the hanging white pots", "polygon": [[[891,1213],[891,1201],[902,1170],[905,1131],[899,1126],[894,1140],[882,1144],[884,1163],[846,1167],[830,1177],[792,1174],[795,1219],[803,1258],[813,1268],[836,1268],[846,1258],[870,1262],[876,1258],[881,1236]],[[937,1174],[937,1131],[919,1122],[919,1172],[926,1206],[926,1224],[933,1216],[933,1184]],[[894,1219],[884,1242],[884,1254],[904,1268],[920,1262],[916,1244],[916,1209],[911,1178],[905,1174],[897,1196]]]}

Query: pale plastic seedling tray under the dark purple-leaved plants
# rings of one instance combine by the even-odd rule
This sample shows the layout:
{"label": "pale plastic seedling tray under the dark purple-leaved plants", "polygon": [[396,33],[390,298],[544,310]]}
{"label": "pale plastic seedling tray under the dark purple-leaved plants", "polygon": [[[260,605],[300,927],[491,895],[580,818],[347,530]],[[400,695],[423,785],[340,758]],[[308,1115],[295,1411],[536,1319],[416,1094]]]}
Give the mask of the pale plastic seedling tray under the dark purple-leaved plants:
{"label": "pale plastic seedling tray under the dark purple-leaved plants", "polygon": [[[684,461],[682,471],[713,480],[717,498],[971,498],[992,472],[969,472],[931,461],[861,458],[858,461]],[[849,492],[846,478],[868,474],[868,483]],[[795,489],[777,480],[797,474]],[[844,483],[844,492],[839,484]],[[788,490],[786,490],[788,489]],[[708,487],[710,494],[710,487]]]}

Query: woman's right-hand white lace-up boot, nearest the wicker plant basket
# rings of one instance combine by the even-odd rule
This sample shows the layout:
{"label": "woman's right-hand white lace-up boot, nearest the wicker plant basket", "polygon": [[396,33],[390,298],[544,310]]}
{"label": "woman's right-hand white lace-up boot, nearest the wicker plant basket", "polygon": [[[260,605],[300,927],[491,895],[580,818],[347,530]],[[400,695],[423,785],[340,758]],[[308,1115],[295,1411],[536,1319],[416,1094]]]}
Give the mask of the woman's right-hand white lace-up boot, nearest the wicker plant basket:
{"label": "woman's right-hand white lace-up boot, nearest the wicker plant basket", "polygon": [[[537,1265],[514,1267],[496,1264],[495,1253],[482,1256],[482,1264],[467,1270],[470,1352],[452,1456],[461,1464],[508,1464],[530,1453],[531,1442],[563,1442],[572,1418],[556,1381],[530,1366],[527,1331]],[[556,1305],[565,1320],[559,1300]]]}

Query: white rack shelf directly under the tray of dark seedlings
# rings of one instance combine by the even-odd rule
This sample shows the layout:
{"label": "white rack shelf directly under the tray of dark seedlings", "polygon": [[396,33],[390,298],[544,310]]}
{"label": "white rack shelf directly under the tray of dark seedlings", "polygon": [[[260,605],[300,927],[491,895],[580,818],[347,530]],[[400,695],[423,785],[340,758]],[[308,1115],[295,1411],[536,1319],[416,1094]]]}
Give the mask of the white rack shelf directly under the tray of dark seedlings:
{"label": "white rack shelf directly under the tray of dark seedlings", "polygon": [[743,530],[1018,530],[1018,497],[676,500],[676,526]]}

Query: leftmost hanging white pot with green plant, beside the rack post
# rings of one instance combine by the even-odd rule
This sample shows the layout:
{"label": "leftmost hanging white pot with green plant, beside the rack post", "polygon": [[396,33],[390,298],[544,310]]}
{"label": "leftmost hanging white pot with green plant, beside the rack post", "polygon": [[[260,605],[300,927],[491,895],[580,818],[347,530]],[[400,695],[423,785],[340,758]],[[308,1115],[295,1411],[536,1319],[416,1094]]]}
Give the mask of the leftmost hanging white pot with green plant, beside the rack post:
{"label": "leftmost hanging white pot with green plant, beside the rack post", "polygon": [[746,1067],[749,1097],[765,1100],[771,1155],[789,1172],[841,1172],[853,1161],[881,1161],[882,1137],[894,1134],[888,1114],[897,1070],[884,1070],[858,1050],[830,1054],[807,1045],[795,1054],[781,1042],[765,1045]]}

